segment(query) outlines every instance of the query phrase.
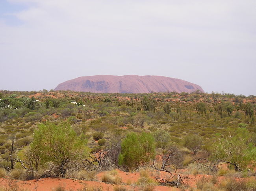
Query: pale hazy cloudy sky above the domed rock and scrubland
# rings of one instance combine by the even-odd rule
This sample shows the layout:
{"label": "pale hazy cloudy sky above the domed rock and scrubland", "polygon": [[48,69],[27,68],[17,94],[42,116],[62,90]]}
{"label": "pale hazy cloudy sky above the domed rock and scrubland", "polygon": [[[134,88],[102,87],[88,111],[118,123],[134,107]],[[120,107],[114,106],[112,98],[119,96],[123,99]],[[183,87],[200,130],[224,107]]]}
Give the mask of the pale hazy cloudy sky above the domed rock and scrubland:
{"label": "pale hazy cloudy sky above the domed rock and scrubland", "polygon": [[160,75],[256,95],[255,0],[0,0],[0,89]]}

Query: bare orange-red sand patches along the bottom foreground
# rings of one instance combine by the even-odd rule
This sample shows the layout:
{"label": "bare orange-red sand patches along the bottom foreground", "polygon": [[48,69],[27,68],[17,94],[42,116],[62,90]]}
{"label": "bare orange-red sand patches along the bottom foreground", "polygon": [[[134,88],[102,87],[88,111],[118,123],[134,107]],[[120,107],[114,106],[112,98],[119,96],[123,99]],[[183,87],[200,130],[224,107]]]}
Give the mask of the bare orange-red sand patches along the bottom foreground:
{"label": "bare orange-red sand patches along the bottom foreground", "polygon": [[[138,182],[140,178],[139,172],[128,173],[124,171],[117,170],[118,175],[122,178],[120,185],[127,188],[128,191],[141,191],[141,186],[137,186],[136,182]],[[105,172],[100,172],[96,175],[96,179],[98,181],[85,181],[85,180],[76,180],[76,179],[67,179],[67,178],[42,178],[39,180],[12,180],[8,177],[0,178],[0,186],[8,187],[10,184],[17,185],[22,189],[26,189],[28,191],[54,191],[54,188],[58,186],[65,187],[65,191],[77,191],[83,187],[102,187],[103,191],[113,191],[113,184],[107,184],[101,181],[101,176]],[[149,172],[152,178],[156,176],[165,178],[168,180],[171,175],[169,173],[163,171],[154,171]],[[185,184],[190,187],[196,187],[196,182],[203,176],[207,178],[211,178],[211,175],[191,175],[186,174],[183,171],[179,174],[182,177],[182,180]],[[176,176],[175,176],[176,178]],[[219,181],[222,180],[224,176],[218,177]],[[239,178],[243,179],[243,178]],[[171,179],[169,179],[171,181]],[[238,180],[238,179],[237,179]],[[130,185],[127,185],[127,182],[130,182]],[[156,186],[156,191],[180,191],[180,189],[176,187],[168,187],[168,186]]]}

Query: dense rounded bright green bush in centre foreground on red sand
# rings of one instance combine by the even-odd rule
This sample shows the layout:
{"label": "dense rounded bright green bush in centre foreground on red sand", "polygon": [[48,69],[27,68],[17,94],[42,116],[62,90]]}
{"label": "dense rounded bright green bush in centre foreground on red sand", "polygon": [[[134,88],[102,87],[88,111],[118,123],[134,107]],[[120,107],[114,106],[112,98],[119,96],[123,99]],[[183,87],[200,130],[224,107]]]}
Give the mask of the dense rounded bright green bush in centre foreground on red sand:
{"label": "dense rounded bright green bush in centre foreground on red sand", "polygon": [[138,169],[148,164],[155,156],[154,138],[149,133],[129,133],[121,144],[119,164],[130,170]]}

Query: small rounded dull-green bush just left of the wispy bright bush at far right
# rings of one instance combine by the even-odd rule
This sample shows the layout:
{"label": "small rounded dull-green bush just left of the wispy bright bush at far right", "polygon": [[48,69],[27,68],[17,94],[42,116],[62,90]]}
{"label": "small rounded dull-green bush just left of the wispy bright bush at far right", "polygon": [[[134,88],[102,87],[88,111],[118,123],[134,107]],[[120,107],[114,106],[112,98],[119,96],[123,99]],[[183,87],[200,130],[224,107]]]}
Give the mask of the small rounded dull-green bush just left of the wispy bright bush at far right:
{"label": "small rounded dull-green bush just left of the wispy bright bush at far right", "polygon": [[202,138],[199,135],[190,134],[184,138],[184,147],[193,151],[194,155],[202,146]]}

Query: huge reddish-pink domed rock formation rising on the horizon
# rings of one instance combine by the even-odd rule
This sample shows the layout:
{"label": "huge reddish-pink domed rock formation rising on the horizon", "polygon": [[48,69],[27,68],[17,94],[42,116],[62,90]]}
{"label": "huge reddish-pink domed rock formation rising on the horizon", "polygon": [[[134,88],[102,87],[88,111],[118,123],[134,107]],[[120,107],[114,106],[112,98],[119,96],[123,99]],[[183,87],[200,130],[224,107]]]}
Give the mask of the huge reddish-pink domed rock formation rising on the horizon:
{"label": "huge reddish-pink domed rock formation rising on the horizon", "polygon": [[72,90],[94,93],[152,93],[188,92],[204,90],[196,84],[164,76],[83,76],[59,84],[54,90]]}

